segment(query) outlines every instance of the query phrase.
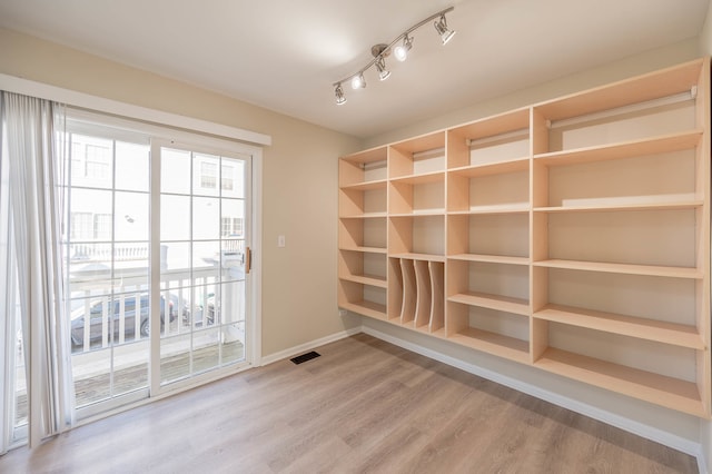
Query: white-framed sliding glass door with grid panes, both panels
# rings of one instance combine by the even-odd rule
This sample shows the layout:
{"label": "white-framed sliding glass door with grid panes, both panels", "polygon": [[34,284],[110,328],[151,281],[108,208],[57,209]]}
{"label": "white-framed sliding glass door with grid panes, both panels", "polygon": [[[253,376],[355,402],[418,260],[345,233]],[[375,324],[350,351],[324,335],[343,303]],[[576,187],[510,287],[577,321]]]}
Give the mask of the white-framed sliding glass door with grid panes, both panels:
{"label": "white-framed sliding glass door with grid panes, both panels", "polygon": [[79,418],[246,362],[251,156],[87,121],[66,138]]}

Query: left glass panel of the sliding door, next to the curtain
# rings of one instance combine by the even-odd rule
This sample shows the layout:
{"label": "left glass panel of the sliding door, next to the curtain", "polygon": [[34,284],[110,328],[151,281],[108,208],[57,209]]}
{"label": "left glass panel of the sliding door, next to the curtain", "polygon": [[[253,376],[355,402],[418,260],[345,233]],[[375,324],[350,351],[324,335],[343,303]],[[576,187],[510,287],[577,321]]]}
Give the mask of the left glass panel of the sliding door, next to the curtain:
{"label": "left glass panel of the sliding door, next to the curtain", "polygon": [[77,408],[91,413],[148,396],[150,147],[110,135],[68,134],[69,337]]}

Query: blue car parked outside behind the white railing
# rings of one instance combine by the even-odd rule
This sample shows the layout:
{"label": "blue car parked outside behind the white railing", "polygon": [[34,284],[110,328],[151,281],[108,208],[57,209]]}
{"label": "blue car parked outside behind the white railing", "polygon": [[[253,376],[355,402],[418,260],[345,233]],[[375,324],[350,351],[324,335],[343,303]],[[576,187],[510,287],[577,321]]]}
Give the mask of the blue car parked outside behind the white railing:
{"label": "blue car parked outside behind the white railing", "polygon": [[[150,334],[150,322],[148,318],[148,293],[140,295],[140,309],[139,309],[139,330],[140,335],[147,337]],[[103,305],[109,304],[110,310],[109,316],[112,319],[112,328],[113,328],[113,339],[119,338],[119,319],[121,317],[121,298],[115,297],[112,300],[108,298],[106,300],[97,300],[91,304],[89,307],[89,340],[91,343],[101,340],[101,330],[102,330],[102,317],[103,317]],[[184,308],[184,316],[187,314],[188,309]],[[136,336],[136,295],[130,295],[123,297],[123,337],[125,339],[135,338]],[[160,297],[160,327],[161,330],[165,325],[165,313],[166,313],[166,298],[164,295]],[[170,295],[168,298],[168,320],[174,322],[178,315],[178,298],[174,295]],[[72,346],[82,346],[85,343],[85,307],[77,308],[71,314],[71,343]],[[109,326],[111,327],[111,326]]]}

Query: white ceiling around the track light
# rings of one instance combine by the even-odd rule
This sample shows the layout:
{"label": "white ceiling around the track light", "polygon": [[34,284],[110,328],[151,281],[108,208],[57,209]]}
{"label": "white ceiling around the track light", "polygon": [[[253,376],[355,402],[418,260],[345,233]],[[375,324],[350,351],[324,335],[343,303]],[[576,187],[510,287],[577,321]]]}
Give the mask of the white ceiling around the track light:
{"label": "white ceiling around the track light", "polygon": [[[0,26],[357,137],[700,33],[710,0],[0,0]],[[455,38],[414,32],[405,62],[357,72],[373,45],[454,6]]]}

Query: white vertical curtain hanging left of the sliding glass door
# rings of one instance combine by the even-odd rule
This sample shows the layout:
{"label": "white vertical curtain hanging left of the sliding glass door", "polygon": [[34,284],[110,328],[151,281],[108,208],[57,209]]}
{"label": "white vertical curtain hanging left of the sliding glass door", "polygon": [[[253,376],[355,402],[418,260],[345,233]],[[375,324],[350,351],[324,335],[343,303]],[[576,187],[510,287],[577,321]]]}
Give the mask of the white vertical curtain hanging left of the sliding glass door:
{"label": "white vertical curtain hanging left of the sliding glass door", "polygon": [[[4,355],[3,376],[13,375],[12,357],[21,334],[27,378],[28,441],[30,447],[47,436],[61,433],[73,423],[73,391],[69,328],[65,317],[62,287],[62,178],[66,160],[61,134],[62,107],[48,100],[1,92],[2,147],[0,170],[0,263],[8,280],[0,287],[6,302],[6,324],[0,334]],[[3,213],[4,210],[4,213]],[[7,235],[6,235],[7,234]],[[14,269],[14,271],[12,271]],[[17,287],[12,285],[12,280]],[[17,290],[14,290],[17,289]],[[8,293],[2,295],[2,292]],[[17,296],[17,302],[16,302]],[[8,307],[11,306],[11,307]],[[21,328],[9,324],[19,310]],[[21,329],[21,333],[18,333]],[[9,334],[12,333],[12,334]],[[11,358],[11,359],[8,359]],[[4,381],[8,381],[6,378]],[[4,384],[8,386],[8,384]],[[13,385],[13,384],[10,384]],[[2,395],[0,451],[7,450],[8,408],[13,396]],[[9,399],[8,399],[9,398]]]}

